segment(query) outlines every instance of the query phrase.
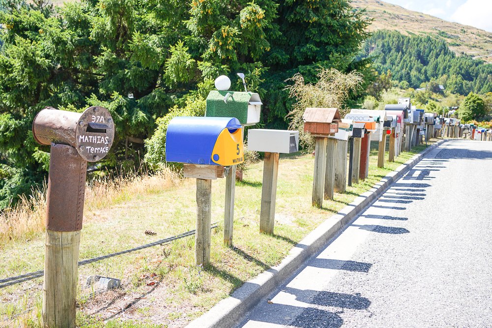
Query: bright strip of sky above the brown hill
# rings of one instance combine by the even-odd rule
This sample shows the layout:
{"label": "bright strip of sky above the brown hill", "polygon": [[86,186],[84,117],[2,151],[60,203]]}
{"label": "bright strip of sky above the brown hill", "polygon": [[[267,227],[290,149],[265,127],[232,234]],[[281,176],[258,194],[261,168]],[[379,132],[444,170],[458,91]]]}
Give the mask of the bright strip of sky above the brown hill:
{"label": "bright strip of sky above the brown hill", "polygon": [[383,0],[446,21],[492,32],[492,0]]}

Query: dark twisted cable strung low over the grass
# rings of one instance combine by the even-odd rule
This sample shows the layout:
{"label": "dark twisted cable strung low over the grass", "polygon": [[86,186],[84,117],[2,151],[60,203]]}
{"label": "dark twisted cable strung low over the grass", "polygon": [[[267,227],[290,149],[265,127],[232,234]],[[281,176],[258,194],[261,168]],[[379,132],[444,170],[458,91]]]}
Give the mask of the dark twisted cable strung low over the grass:
{"label": "dark twisted cable strung low over the grass", "polygon": [[[214,222],[214,223],[212,223],[212,225],[211,225],[210,228],[211,229],[215,229],[217,227],[218,227],[217,222]],[[111,253],[111,254],[107,254],[107,255],[103,255],[103,256],[94,257],[92,259],[80,261],[78,263],[78,266],[80,267],[80,266],[83,266],[83,265],[86,265],[86,264],[89,264],[89,263],[93,263],[93,262],[97,262],[97,261],[109,259],[109,258],[114,257],[114,256],[118,256],[118,255],[123,255],[123,254],[126,254],[126,253],[135,252],[135,251],[138,251],[138,250],[141,250],[141,249],[145,249],[145,248],[149,248],[149,247],[153,247],[153,246],[157,246],[157,245],[164,245],[164,244],[170,243],[171,241],[174,241],[174,240],[178,240],[178,239],[182,239],[182,238],[185,238],[185,237],[193,236],[195,234],[195,232],[196,232],[196,230],[190,230],[190,231],[184,232],[184,233],[182,233],[180,235],[176,235],[176,236],[172,236],[172,237],[160,239],[160,240],[151,242],[149,244],[145,244],[145,245],[137,246],[137,247],[134,247],[134,248],[126,249],[126,250],[123,250],[123,251],[120,251],[120,252]],[[44,270],[39,270],[39,271],[35,271],[35,272],[24,273],[24,274],[15,276],[15,277],[9,277],[9,278],[5,278],[5,279],[0,279],[0,289],[1,288],[8,287],[8,286],[15,285],[15,284],[20,284],[22,282],[29,281],[29,280],[32,280],[32,279],[35,279],[35,278],[39,278],[39,277],[42,277],[43,275],[44,275]]]}

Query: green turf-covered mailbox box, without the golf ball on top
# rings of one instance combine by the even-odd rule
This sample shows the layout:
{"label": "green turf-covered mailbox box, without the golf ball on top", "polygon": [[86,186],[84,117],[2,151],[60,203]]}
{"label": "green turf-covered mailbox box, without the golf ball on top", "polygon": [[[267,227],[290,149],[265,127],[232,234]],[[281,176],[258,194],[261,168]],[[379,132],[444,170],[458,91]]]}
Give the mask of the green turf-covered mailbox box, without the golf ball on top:
{"label": "green turf-covered mailbox box, without the golf ball on top", "polygon": [[254,92],[212,90],[207,96],[206,117],[236,118],[243,126],[260,121],[260,96]]}

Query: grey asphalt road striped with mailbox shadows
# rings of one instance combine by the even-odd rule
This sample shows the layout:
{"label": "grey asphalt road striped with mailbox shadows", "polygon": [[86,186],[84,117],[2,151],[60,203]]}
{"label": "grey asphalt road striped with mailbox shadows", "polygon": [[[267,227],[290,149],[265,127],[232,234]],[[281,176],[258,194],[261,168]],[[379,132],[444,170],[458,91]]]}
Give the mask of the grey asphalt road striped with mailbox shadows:
{"label": "grey asphalt road striped with mailbox shadows", "polygon": [[238,327],[492,327],[492,142],[434,149]]}

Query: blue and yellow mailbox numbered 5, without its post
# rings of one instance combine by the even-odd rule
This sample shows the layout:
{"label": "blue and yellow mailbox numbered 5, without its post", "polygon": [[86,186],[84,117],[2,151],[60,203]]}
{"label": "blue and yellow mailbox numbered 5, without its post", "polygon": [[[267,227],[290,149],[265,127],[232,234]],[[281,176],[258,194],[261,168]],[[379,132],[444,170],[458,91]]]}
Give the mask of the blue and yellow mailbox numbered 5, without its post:
{"label": "blue and yellow mailbox numbered 5, without its post", "polygon": [[235,118],[171,119],[166,133],[166,161],[222,166],[242,163],[241,123]]}

